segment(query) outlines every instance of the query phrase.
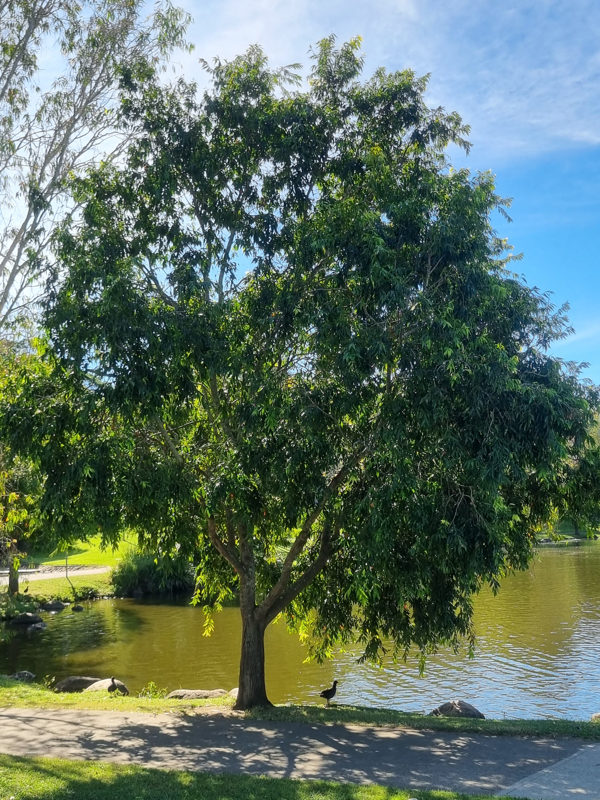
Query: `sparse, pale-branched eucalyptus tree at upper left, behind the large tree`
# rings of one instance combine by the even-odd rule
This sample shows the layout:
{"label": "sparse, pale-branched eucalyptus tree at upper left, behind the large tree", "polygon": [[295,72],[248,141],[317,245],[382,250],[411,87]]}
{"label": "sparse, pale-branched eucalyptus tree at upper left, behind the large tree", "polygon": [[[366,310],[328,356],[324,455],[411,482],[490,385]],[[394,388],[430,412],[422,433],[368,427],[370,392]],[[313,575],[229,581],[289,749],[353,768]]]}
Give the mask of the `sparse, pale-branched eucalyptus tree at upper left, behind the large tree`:
{"label": "sparse, pale-branched eucalyptus tree at upper left, behind the large tree", "polygon": [[[122,152],[115,102],[135,65],[186,46],[169,2],[0,0],[0,326],[39,298],[73,174]],[[48,75],[53,79],[49,80]]]}

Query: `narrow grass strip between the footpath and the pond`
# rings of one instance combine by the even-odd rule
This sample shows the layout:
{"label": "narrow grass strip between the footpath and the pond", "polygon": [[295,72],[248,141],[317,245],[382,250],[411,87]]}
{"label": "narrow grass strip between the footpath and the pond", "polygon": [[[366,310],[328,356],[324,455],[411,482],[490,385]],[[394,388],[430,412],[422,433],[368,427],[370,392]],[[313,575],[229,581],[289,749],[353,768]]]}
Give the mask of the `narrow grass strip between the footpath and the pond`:
{"label": "narrow grass strip between the footpath and the pond", "polygon": [[[160,693],[158,693],[160,694]],[[37,683],[22,683],[0,676],[0,708],[62,708],[97,711],[129,711],[146,714],[231,715],[264,722],[304,722],[310,725],[358,725],[446,730],[456,733],[494,736],[543,736],[600,741],[600,722],[574,719],[466,719],[430,717],[391,709],[362,706],[269,706],[250,711],[234,711],[234,698],[174,700],[162,696],[124,697],[108,692],[85,694],[58,693]]]}

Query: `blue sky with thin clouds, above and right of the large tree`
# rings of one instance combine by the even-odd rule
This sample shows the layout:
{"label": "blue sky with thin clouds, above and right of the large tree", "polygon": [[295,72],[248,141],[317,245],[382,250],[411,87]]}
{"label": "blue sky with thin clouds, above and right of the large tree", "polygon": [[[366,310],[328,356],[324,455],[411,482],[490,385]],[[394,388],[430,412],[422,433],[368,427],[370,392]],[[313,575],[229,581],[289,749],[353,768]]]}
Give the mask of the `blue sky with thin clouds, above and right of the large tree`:
{"label": "blue sky with thin clouds, above and right of the large tree", "polygon": [[[180,0],[181,2],[181,0]],[[232,58],[261,44],[274,66],[309,59],[330,33],[363,37],[366,74],[430,73],[431,105],[472,128],[463,162],[492,170],[514,198],[498,230],[524,254],[527,282],[569,302],[562,358],[600,382],[600,3],[597,0],[184,0],[194,17],[185,58]]]}

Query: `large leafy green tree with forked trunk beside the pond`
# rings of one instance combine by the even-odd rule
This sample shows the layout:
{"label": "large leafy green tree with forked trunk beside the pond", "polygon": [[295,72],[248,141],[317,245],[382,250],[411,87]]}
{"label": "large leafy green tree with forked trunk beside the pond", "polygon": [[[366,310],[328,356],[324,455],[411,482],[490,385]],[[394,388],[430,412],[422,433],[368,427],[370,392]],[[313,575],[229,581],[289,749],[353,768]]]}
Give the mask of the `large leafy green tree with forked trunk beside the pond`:
{"label": "large leafy green tree with forked trunk beside the pond", "polygon": [[470,637],[590,446],[562,311],[508,270],[492,176],[446,158],[468,130],[358,47],[321,42],[306,90],[258,48],[202,96],[126,75],[143,133],[78,185],[54,375],[5,415],[54,524],[195,550],[198,599],[238,594],[242,709],[279,614],[318,657]]}

